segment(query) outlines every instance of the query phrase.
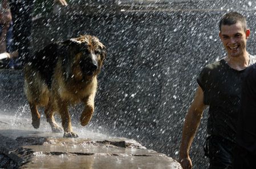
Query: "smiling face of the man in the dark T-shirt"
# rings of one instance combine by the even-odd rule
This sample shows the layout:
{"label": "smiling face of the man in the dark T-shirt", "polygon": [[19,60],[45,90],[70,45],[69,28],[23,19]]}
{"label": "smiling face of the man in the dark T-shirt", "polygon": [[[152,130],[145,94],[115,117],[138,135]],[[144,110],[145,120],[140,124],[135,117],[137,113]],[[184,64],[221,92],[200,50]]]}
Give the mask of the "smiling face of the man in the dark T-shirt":
{"label": "smiling face of the man in the dark T-shirt", "polygon": [[222,25],[220,38],[230,57],[239,57],[246,53],[246,40],[249,38],[250,30],[242,26],[241,22],[231,25]]}

